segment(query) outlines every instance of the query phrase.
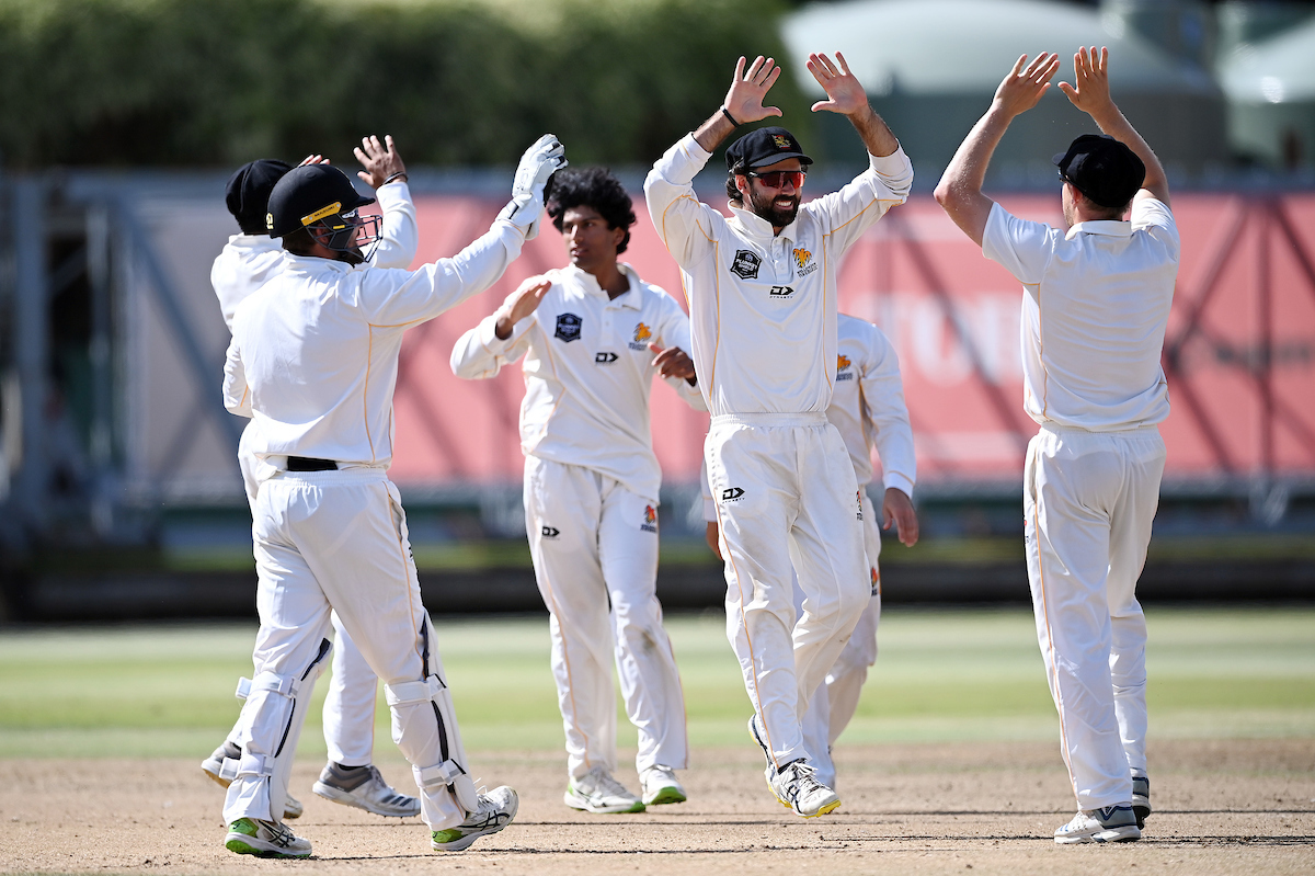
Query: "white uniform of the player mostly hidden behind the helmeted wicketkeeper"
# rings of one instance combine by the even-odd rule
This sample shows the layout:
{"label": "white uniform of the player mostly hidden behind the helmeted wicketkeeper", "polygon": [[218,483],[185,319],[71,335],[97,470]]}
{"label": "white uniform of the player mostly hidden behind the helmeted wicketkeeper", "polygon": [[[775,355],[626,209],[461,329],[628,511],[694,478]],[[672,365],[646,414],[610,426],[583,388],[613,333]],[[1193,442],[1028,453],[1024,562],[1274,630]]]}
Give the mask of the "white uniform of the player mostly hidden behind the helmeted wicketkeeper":
{"label": "white uniform of the player mostly hidden behind the helmeted wicketkeeper", "polygon": [[[402,180],[388,183],[375,189],[375,199],[383,213],[383,224],[370,263],[376,267],[405,268],[414,260],[419,246],[410,188]],[[283,271],[285,255],[283,241],[276,237],[229,237],[210,268],[210,285],[220,299],[224,324],[230,333],[238,305]],[[255,455],[249,446],[251,434],[252,425],[247,424],[238,442],[238,467],[242,470],[242,485],[254,517],[259,481],[255,477]],[[337,614],[333,616],[333,627],[338,647],[333,651],[333,676],[323,705],[325,743],[329,759],[334,763],[364,767],[373,759],[377,679],[342,629]],[[235,725],[229,733],[229,741],[238,744],[239,733],[241,727]]]}

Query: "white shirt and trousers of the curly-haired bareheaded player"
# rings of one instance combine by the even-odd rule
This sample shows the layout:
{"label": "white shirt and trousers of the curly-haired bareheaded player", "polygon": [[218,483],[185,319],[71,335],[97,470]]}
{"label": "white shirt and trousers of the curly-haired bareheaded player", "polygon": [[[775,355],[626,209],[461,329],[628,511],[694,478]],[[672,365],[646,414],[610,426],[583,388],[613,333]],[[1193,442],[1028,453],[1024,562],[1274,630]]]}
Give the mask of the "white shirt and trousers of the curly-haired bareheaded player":
{"label": "white shirt and trousers of the curly-haired bareheaded player", "polygon": [[[680,769],[689,759],[685,697],[656,596],[661,470],[648,422],[658,372],[648,345],[688,351],[689,318],[619,267],[630,288],[615,299],[577,267],[550,271],[552,288],[505,341],[494,313],[462,335],[451,359],[459,377],[481,379],[525,356],[525,527],[551,614],[572,779],[617,769],[613,662],[639,730],[635,767]],[[697,388],[668,384],[704,409]]]}

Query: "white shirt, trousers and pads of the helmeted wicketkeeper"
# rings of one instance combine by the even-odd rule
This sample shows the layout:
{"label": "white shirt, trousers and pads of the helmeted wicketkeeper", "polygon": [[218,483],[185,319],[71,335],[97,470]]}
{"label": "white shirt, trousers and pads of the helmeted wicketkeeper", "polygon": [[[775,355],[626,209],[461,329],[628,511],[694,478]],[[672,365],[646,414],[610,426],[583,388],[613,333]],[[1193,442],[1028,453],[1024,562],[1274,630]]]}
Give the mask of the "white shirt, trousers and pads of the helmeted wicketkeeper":
{"label": "white shirt, trousers and pads of the helmeted wicketkeeper", "polygon": [[[522,230],[500,220],[455,258],[414,272],[288,255],[238,306],[224,395],[229,410],[255,420],[260,631],[225,821],[283,812],[305,700],[297,691],[322,658],[330,610],[384,680],[425,822],[441,830],[476,808],[406,517],[387,476],[393,387],[404,330],[492,285],[522,243]],[[337,470],[292,472],[289,455]]]}

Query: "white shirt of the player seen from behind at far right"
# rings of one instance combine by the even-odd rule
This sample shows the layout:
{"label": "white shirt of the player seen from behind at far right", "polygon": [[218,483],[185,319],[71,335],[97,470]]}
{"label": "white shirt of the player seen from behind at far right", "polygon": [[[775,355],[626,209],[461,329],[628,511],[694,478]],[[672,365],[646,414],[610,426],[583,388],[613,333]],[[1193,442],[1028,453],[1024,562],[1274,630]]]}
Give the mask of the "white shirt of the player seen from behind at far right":
{"label": "white shirt of the player seen from behind at far right", "polygon": [[1027,416],[1091,431],[1169,416],[1160,353],[1178,254],[1173,213],[1153,197],[1134,201],[1128,222],[1068,231],[992,207],[982,255],[1023,284]]}

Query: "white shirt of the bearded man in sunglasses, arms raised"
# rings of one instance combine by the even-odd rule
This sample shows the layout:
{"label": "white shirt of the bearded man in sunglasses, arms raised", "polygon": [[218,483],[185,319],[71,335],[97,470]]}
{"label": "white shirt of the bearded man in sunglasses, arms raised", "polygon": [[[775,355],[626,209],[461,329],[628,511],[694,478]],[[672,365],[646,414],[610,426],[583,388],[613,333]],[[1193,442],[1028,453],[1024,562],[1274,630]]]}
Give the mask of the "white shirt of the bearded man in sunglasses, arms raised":
{"label": "white shirt of the bearded man in sunglasses, arms raised", "polygon": [[836,272],[873,222],[909,197],[903,150],[869,155],[838,192],[800,207],[780,234],[750,210],[698,201],[693,180],[711,153],[693,134],[644,180],[648,213],[681,270],[692,356],[714,414],[823,412],[836,362]]}

